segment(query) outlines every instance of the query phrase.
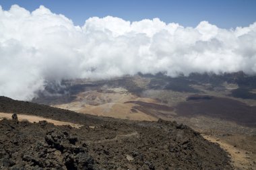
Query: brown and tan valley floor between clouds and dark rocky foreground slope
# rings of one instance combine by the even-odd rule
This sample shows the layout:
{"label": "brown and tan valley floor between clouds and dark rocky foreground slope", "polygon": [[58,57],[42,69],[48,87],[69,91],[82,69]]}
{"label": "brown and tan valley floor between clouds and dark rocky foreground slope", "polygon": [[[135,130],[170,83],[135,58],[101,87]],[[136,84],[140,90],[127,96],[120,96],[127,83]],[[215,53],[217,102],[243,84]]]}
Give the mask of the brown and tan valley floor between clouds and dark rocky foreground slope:
{"label": "brown and tan valley floor between clouds and dark rocky foreground slope", "polygon": [[230,153],[236,169],[255,169],[255,91],[256,77],[243,72],[159,73],[53,82],[33,101],[82,114],[187,124]]}

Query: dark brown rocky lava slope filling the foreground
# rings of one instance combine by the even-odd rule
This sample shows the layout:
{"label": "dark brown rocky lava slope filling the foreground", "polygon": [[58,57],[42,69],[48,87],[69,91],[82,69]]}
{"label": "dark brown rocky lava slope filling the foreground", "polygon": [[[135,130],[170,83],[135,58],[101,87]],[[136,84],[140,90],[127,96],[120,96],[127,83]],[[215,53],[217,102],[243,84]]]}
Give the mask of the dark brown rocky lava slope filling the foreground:
{"label": "dark brown rocky lava slope filling the foreground", "polygon": [[[0,97],[1,112],[10,110],[3,99],[11,101]],[[13,110],[29,105],[36,113],[57,112],[45,105],[11,103]],[[58,112],[65,116],[67,111]],[[225,151],[183,124],[77,116],[79,124],[84,120],[82,128],[19,122],[15,116],[1,120],[0,169],[232,169]]]}

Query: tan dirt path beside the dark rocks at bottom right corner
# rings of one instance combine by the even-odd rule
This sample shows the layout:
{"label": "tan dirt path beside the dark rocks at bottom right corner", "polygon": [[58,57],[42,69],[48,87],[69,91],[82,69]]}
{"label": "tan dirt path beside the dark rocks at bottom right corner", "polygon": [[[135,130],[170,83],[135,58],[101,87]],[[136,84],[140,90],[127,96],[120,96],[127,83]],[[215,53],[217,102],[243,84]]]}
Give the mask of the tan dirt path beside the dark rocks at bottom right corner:
{"label": "tan dirt path beside the dark rocks at bottom right corner", "polygon": [[205,134],[203,134],[202,136],[210,142],[216,142],[220,144],[220,147],[230,154],[232,165],[234,165],[235,169],[256,169],[256,167],[254,167],[252,163],[253,161],[246,154],[247,151],[232,146],[231,144],[228,144],[227,142],[224,142],[214,136],[209,136]]}

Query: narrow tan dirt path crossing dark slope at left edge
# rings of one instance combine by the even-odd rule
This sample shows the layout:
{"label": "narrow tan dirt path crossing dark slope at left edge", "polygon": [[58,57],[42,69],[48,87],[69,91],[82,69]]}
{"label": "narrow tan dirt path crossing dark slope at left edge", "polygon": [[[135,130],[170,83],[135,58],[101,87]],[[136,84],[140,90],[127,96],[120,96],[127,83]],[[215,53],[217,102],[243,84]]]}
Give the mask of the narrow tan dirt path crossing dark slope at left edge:
{"label": "narrow tan dirt path crossing dark slope at left edge", "polygon": [[[0,112],[0,120],[3,119],[3,118],[11,119],[11,116],[12,116],[12,114],[7,114],[7,113]],[[26,115],[26,114],[18,114],[18,120],[20,120],[20,121],[21,120],[28,120],[28,122],[39,122],[39,121],[42,121],[42,120],[46,120],[47,122],[53,123],[57,126],[70,125],[73,128],[79,128],[79,127],[82,126],[82,125],[73,124],[73,123],[70,123],[70,122],[61,122],[61,121],[58,121],[58,120],[51,120],[51,119],[42,118],[42,117],[39,117],[39,116],[31,116],[31,115]]]}

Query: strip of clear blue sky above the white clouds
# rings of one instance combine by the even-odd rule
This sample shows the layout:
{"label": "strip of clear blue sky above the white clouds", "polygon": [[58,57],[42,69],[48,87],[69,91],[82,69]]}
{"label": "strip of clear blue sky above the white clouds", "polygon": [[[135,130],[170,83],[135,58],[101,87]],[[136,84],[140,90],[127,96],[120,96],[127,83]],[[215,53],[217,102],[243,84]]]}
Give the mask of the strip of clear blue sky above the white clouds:
{"label": "strip of clear blue sky above the white clouds", "polygon": [[203,20],[216,24],[220,28],[248,26],[256,22],[255,0],[0,0],[0,5],[7,10],[13,4],[33,11],[39,5],[62,13],[82,26],[88,17],[112,15],[129,21],[159,17],[166,23],[176,22],[182,26],[197,26]]}

